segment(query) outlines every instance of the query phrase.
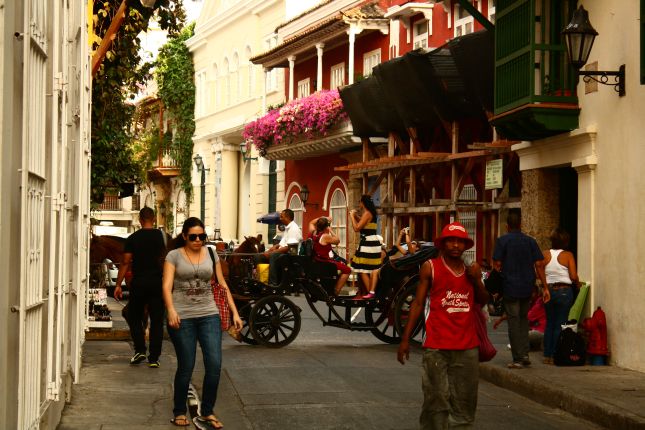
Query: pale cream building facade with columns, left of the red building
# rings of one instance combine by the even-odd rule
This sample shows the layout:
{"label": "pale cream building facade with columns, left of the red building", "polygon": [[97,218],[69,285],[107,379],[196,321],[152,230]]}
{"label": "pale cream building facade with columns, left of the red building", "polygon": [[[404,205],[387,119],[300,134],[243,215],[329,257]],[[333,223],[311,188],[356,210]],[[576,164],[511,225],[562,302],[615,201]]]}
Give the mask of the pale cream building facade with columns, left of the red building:
{"label": "pale cream building facade with columns, left of the red building", "polygon": [[[204,6],[195,36],[187,42],[196,73],[205,75],[201,85],[196,81],[201,109],[193,138],[194,154],[209,168],[204,223],[209,230],[220,229],[226,241],[258,233],[266,238],[267,226],[256,219],[268,211],[268,170],[261,168],[254,150],[247,157],[255,159],[244,160],[240,144],[244,126],[264,113],[265,74],[248,60],[268,49],[267,38],[284,21],[285,10],[285,0],[212,2]],[[285,99],[284,72],[273,74],[269,106]],[[190,214],[199,216],[199,178],[193,176],[193,185]]]}

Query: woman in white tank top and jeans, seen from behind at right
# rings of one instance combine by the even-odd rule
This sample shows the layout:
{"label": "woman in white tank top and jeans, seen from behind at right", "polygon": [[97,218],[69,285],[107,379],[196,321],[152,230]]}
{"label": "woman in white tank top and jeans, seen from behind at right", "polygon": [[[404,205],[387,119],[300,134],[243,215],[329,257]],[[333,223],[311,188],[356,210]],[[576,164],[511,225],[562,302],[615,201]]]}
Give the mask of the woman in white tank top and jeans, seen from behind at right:
{"label": "woman in white tank top and jeans, seen from behind at right", "polygon": [[544,363],[553,364],[555,344],[560,336],[562,324],[567,322],[569,309],[573,304],[573,289],[578,288],[576,261],[570,251],[569,233],[558,227],[551,232],[551,249],[544,254],[544,271],[551,300],[544,304],[546,329],[544,331]]}

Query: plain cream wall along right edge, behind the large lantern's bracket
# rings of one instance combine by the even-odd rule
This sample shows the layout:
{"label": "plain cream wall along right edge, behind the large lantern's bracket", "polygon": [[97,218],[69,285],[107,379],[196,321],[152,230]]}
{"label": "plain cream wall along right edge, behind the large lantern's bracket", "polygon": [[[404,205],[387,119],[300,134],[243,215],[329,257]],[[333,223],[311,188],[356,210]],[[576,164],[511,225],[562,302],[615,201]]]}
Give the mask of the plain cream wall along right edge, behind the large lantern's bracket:
{"label": "plain cream wall along right edge, behind the large lantern's bracket", "polygon": [[645,212],[645,86],[639,79],[639,2],[583,3],[600,33],[589,62],[597,61],[598,70],[617,70],[625,64],[627,95],[618,97],[612,87],[602,85],[598,92],[584,95],[584,83],[578,87],[580,126],[598,131],[596,193],[588,209],[593,220],[591,231],[579,236],[592,240],[592,305],[602,306],[607,314],[612,362],[645,371],[645,349],[634,347],[634,339],[645,336],[645,301],[638,299],[645,277],[639,243],[645,238],[640,216]]}

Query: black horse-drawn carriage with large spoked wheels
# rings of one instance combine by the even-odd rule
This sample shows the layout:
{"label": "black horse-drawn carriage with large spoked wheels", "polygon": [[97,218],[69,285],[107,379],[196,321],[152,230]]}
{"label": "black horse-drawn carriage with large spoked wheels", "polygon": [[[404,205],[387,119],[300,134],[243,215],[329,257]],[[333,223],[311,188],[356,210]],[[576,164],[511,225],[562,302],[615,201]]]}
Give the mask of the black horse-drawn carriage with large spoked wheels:
{"label": "black horse-drawn carriage with large spoked wheels", "polygon": [[[336,266],[315,261],[310,254],[285,254],[278,258],[274,264],[281,275],[279,285],[259,280],[255,276],[254,239],[247,238],[232,253],[220,253],[220,258],[228,266],[227,282],[244,322],[242,340],[274,348],[290,344],[300,331],[301,309],[286,297],[299,293],[323,325],[370,331],[383,342],[398,343],[414,300],[419,268],[436,255],[434,247],[427,247],[391,261],[381,269],[376,297],[355,300],[334,294]],[[413,339],[420,340],[422,330],[418,322]]]}

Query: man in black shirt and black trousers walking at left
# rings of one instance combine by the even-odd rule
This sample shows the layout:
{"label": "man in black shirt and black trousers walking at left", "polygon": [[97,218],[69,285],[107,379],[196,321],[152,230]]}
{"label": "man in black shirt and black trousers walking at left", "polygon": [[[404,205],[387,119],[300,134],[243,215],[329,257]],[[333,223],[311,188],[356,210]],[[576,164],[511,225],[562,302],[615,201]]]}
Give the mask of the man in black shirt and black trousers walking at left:
{"label": "man in black shirt and black trousers walking at left", "polygon": [[154,228],[155,213],[149,207],[139,211],[141,230],[130,235],[125,242],[123,263],[119,267],[114,297],[121,299],[121,282],[132,265],[128,325],[134,342],[134,355],[130,364],[146,359],[146,340],[141,324],[145,305],[150,314],[150,353],[148,366],[159,367],[163,341],[164,303],[161,295],[163,258],[166,255],[165,233]]}

